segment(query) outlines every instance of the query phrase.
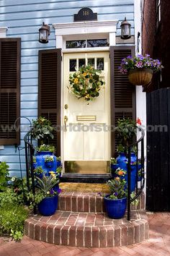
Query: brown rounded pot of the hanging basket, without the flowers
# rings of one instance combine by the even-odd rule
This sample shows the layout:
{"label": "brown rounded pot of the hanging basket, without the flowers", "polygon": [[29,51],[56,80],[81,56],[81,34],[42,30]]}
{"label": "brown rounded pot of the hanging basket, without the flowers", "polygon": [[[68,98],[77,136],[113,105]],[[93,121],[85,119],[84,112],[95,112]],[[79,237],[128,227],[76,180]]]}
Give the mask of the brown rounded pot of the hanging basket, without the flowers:
{"label": "brown rounded pot of the hanging basket, without the flowers", "polygon": [[152,69],[132,69],[128,72],[128,79],[133,85],[148,85],[152,77]]}

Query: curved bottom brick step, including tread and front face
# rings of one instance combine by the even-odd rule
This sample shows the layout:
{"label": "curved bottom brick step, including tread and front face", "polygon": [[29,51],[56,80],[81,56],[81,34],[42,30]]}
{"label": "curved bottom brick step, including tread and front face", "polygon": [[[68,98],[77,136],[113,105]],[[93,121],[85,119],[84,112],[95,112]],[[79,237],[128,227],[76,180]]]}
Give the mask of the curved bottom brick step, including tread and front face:
{"label": "curved bottom brick step, including tread and front face", "polygon": [[71,213],[56,211],[55,215],[31,216],[25,221],[25,234],[50,244],[78,247],[117,247],[148,239],[146,213],[131,212],[115,220],[105,213]]}

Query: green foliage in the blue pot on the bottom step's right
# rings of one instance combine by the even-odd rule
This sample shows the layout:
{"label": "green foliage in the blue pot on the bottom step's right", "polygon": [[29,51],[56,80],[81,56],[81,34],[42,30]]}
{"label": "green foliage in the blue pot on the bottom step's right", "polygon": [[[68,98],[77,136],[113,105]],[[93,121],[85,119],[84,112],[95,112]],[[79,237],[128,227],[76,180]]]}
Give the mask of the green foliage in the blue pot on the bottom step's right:
{"label": "green foliage in the blue pot on the bottom step's right", "polygon": [[127,196],[127,189],[125,188],[127,182],[125,179],[120,179],[119,176],[115,177],[115,179],[109,180],[107,185],[110,189],[109,199],[117,200],[122,199]]}

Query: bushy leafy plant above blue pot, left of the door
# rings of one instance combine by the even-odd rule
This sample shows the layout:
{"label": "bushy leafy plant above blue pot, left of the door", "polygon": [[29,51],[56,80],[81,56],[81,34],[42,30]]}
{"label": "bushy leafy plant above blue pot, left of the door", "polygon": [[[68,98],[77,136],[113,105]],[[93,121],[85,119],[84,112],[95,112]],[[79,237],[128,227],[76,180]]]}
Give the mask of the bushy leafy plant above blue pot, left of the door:
{"label": "bushy leafy plant above blue pot, left of the door", "polygon": [[45,117],[40,116],[35,121],[32,121],[32,137],[40,140],[40,144],[48,143],[49,139],[53,139],[54,128],[51,122]]}

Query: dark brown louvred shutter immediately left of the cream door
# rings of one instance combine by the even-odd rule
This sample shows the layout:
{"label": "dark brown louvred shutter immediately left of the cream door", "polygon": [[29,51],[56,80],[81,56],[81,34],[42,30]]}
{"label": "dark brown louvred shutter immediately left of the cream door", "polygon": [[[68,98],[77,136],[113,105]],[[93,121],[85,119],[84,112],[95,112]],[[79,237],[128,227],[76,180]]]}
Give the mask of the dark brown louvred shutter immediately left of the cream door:
{"label": "dark brown louvred shutter immediately left of the cream door", "polygon": [[[53,126],[61,126],[61,49],[39,51],[38,116],[45,116]],[[56,155],[61,155],[61,132],[50,140]]]}

